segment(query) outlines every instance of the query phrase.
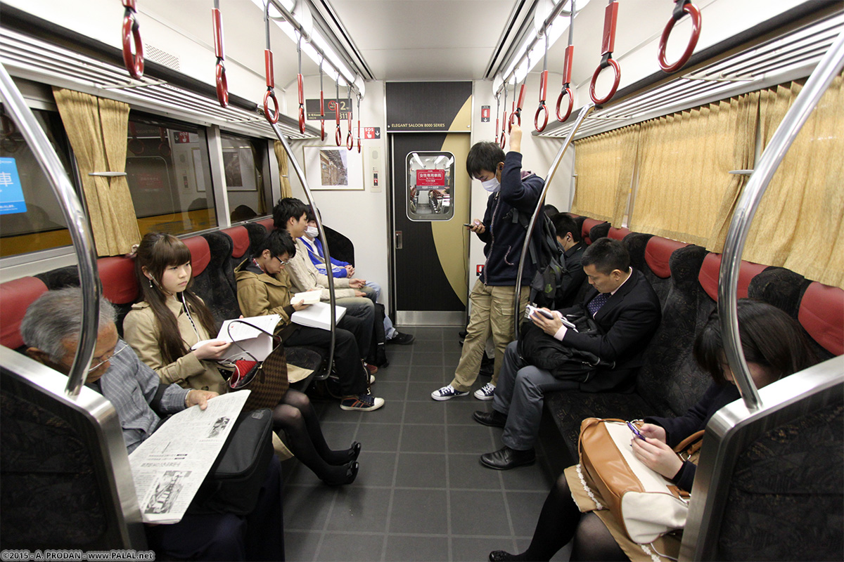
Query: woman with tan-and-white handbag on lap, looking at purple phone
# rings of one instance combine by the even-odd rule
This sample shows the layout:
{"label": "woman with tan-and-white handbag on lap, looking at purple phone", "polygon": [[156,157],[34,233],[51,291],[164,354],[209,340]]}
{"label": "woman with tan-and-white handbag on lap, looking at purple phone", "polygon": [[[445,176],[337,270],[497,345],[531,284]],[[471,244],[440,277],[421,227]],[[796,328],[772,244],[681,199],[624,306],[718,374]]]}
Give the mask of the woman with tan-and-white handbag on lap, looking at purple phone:
{"label": "woman with tan-and-white handbag on lap, looking at purple phone", "polygon": [[[738,333],[750,376],[757,388],[802,371],[816,359],[800,325],[764,302],[738,301]],[[740,398],[724,356],[721,327],[713,314],[695,340],[695,361],[713,379],[701,400],[678,418],[646,418],[639,428],[642,437],[630,442],[633,455],[647,468],[670,479],[681,490],[691,490],[695,464],[682,460],[672,447],[701,431],[718,409]],[[632,434],[631,434],[632,435]],[[503,550],[490,553],[490,560],[549,560],[574,539],[571,560],[643,560],[679,551],[680,534],[670,533],[651,543],[633,542],[617,514],[596,508],[603,498],[587,482],[581,465],[565,469],[545,500],[533,539],[522,554]],[[584,476],[585,475],[585,476]],[[606,502],[603,502],[606,505]],[[666,556],[668,558],[668,556]]]}

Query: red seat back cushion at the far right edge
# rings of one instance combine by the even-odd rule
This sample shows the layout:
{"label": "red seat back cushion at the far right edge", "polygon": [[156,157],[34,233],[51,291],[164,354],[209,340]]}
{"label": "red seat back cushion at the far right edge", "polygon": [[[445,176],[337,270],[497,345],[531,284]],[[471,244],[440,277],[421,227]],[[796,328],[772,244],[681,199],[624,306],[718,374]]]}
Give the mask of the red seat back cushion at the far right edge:
{"label": "red seat back cushion at the far right edge", "polygon": [[803,293],[798,320],[826,351],[844,354],[844,291],[814,281]]}

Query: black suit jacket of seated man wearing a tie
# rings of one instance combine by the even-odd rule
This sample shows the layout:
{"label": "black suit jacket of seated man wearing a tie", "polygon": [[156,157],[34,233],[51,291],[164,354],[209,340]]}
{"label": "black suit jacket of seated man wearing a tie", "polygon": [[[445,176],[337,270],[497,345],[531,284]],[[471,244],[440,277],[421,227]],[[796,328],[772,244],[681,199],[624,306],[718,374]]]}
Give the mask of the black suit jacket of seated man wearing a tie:
{"label": "black suit jacket of seated man wearing a tie", "polygon": [[[566,314],[589,314],[586,307],[598,291],[590,288],[581,304],[565,308]],[[630,279],[595,315],[598,334],[581,334],[573,329],[565,332],[563,342],[575,349],[590,351],[604,361],[615,361],[612,370],[597,370],[590,373],[581,383],[581,389],[587,392],[607,390],[632,390],[636,370],[641,367],[642,356],[647,342],[656,331],[662,312],[651,284],[641,272],[632,269]]]}

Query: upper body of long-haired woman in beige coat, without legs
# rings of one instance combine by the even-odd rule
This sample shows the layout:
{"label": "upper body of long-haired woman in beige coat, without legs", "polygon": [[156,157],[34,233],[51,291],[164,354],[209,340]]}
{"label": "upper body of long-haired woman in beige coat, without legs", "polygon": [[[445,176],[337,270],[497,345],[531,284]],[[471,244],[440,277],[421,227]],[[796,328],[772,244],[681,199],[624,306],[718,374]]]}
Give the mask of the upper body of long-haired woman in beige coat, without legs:
{"label": "upper body of long-haired woman in beige coat, without legs", "polygon": [[189,291],[191,250],[169,234],[148,233],[138,245],[135,275],[141,301],[123,320],[127,343],[162,383],[225,393],[216,360],[231,344],[214,340],[191,351],[198,341],[217,334],[203,299]]}

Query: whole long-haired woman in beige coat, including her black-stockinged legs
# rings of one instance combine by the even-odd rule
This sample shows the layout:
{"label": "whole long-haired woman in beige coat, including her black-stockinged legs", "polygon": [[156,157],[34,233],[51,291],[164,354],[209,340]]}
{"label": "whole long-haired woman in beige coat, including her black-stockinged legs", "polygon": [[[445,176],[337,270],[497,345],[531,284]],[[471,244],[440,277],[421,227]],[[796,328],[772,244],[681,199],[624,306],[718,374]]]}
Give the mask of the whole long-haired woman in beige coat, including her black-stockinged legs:
{"label": "whole long-haired woman in beige coat, including her black-stockinged legs", "polygon": [[[147,233],[138,245],[135,274],[141,301],[123,320],[127,343],[163,383],[185,388],[208,383],[213,385],[211,390],[225,392],[228,385],[216,361],[226,355],[230,344],[216,340],[191,351],[197,341],[217,332],[211,311],[189,290],[191,250],[170,234]],[[286,390],[273,408],[273,429],[284,430],[290,451],[326,484],[354,481],[360,443],[340,451],[329,448],[306,394]]]}

